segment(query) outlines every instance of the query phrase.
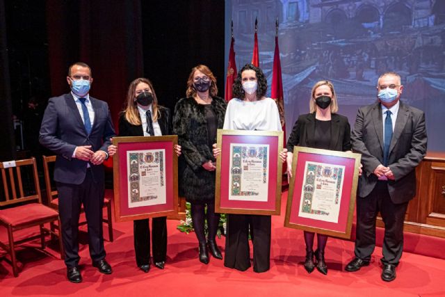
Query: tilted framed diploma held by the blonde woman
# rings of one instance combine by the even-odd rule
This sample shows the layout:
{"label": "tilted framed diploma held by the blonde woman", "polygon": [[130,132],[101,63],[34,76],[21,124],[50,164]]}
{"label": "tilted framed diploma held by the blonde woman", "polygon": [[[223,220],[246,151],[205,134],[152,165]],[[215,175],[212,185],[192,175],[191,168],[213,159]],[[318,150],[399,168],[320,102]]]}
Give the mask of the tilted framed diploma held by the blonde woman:
{"label": "tilted framed diploma held by the blonde woman", "polygon": [[294,147],[284,226],[350,239],[360,158]]}

